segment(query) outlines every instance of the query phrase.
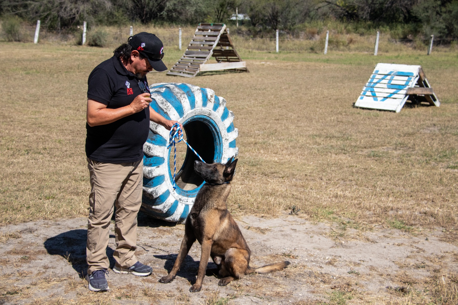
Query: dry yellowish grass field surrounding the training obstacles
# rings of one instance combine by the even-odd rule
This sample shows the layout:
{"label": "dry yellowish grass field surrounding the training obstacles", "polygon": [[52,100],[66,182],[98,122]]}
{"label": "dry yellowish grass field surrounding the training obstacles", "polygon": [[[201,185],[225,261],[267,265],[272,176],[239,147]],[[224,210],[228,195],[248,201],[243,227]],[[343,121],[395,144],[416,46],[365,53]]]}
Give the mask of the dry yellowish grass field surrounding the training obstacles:
{"label": "dry yellowish grass field surrounding the training obstacles", "polygon": [[[112,55],[112,50],[55,44],[0,44],[3,59],[0,66],[1,226],[9,228],[23,222],[61,221],[87,215],[89,181],[84,153],[87,76]],[[344,240],[350,230],[354,238],[371,230],[395,230],[390,232],[425,240],[429,235],[423,234],[437,230],[436,239],[446,245],[441,251],[451,257],[450,265],[442,265],[442,254],[435,254],[439,261],[428,261],[423,266],[435,266],[427,270],[433,282],[432,276],[438,278],[440,270],[457,272],[458,54],[437,51],[427,56],[424,51],[403,50],[381,52],[375,57],[369,53],[335,51],[327,55],[238,51],[246,59],[250,73],[208,73],[190,79],[164,73],[147,76],[150,84],[188,82],[211,88],[227,100],[228,109],[235,114],[234,125],[239,129],[239,163],[228,202],[234,216],[245,221],[249,215],[275,219],[300,209],[297,216],[289,217],[310,224],[331,225],[334,229],[328,232],[330,240]],[[173,65],[181,54],[176,48],[166,48],[166,65]],[[398,114],[353,108],[378,62],[421,65],[441,106],[406,105]],[[0,242],[6,243],[20,236],[1,227],[0,233]],[[176,254],[177,250],[170,251]],[[288,253],[283,254],[288,256]],[[19,257],[14,266],[16,263],[21,266]],[[52,261],[48,263],[51,265]],[[433,269],[439,271],[434,273]],[[6,296],[7,292],[14,292],[11,290],[14,280],[2,272],[0,294]],[[450,274],[453,278],[453,272]],[[430,279],[429,275],[427,278]],[[316,281],[320,281],[319,277]],[[456,277],[454,281],[457,283]],[[207,283],[215,289],[214,280]],[[327,284],[332,286],[326,281],[320,285]],[[52,286],[50,281],[46,285]],[[400,284],[409,285],[413,286],[414,282]],[[454,294],[450,287],[443,288],[445,292],[436,287],[440,290],[437,295]],[[320,298],[331,304],[372,304],[376,300],[367,296],[345,299],[353,290],[341,289],[342,294],[335,294],[338,290],[334,289],[327,294],[316,289],[321,293]],[[399,300],[404,298],[404,304],[414,304],[415,300],[426,304],[429,300],[416,294],[406,297],[398,290],[394,296]],[[237,291],[234,288],[234,295]],[[27,297],[20,291],[16,293]],[[250,294],[249,287],[244,294]],[[148,297],[147,293],[144,295],[143,298]],[[167,303],[164,295],[161,296],[164,304],[189,302],[184,294],[175,294],[169,296]],[[457,304],[457,297],[458,292],[455,299],[447,299],[451,301],[443,304]],[[33,301],[30,295],[27,298]],[[116,298],[104,298],[103,304],[116,303]],[[119,301],[120,304],[136,303],[124,294],[122,298],[125,301]],[[308,298],[318,297],[311,293]],[[13,297],[7,299],[15,302]],[[217,303],[218,298],[210,295],[202,304],[227,304],[232,302],[229,299]],[[84,304],[90,303],[84,300]],[[72,302],[76,304],[76,300]],[[296,304],[308,304],[300,302],[304,303]]]}

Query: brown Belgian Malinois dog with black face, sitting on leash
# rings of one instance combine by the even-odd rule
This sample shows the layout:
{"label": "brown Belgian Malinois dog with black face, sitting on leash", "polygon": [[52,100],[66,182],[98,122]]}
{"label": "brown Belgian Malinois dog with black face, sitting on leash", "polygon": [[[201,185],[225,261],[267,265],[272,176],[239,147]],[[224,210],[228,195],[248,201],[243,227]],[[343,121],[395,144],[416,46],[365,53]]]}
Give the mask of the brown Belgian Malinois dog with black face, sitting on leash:
{"label": "brown Belgian Malinois dog with black face, sitting on leash", "polygon": [[234,157],[230,158],[226,164],[194,162],[196,173],[201,175],[206,183],[197,193],[196,201],[186,218],[185,237],[172,271],[162,277],[160,283],[170,283],[174,280],[181,263],[196,240],[202,245],[202,254],[196,283],[189,289],[191,292],[202,289],[209,256],[217,265],[219,275],[223,277],[218,283],[219,286],[225,286],[251,272],[279,271],[289,265],[289,261],[282,261],[259,268],[250,267],[250,248],[226,204],[238,160],[233,159]]}

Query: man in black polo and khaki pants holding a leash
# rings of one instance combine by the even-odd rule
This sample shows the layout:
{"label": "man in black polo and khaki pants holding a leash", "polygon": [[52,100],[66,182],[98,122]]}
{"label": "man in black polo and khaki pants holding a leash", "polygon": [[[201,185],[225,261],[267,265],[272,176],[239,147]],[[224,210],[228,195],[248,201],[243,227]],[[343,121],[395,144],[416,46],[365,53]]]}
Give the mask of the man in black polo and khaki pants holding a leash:
{"label": "man in black polo and khaki pants holding a leash", "polygon": [[143,144],[149,121],[170,130],[150,106],[146,74],[165,71],[164,46],[150,33],[138,33],[114,50],[87,81],[86,156],[91,193],[87,222],[87,281],[92,291],[109,289],[105,274],[109,224],[116,206],[114,272],[148,276],[153,269],[135,257],[137,213],[142,204]]}

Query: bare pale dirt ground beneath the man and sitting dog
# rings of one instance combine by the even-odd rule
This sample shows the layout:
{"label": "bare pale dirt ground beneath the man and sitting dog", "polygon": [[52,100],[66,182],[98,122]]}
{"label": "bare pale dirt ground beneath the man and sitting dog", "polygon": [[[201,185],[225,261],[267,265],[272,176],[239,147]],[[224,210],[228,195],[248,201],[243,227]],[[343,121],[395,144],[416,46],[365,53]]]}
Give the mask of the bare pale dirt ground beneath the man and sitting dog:
{"label": "bare pale dirt ground beneath the man and sitting dog", "polygon": [[[252,251],[252,266],[281,260],[281,272],[248,275],[218,286],[213,262],[200,293],[196,280],[200,246],[194,245],[174,282],[158,283],[173,266],[184,225],[139,217],[137,256],[153,267],[147,278],[109,272],[110,291],[87,289],[86,218],[6,226],[20,232],[0,249],[2,304],[330,304],[436,302],[456,304],[458,247],[444,232],[411,234],[399,229],[344,230],[285,214],[237,220]],[[255,228],[255,229],[253,229]],[[113,230],[111,224],[110,230]],[[333,231],[341,234],[336,236]],[[370,240],[370,241],[369,241]],[[107,253],[114,266],[114,235]],[[453,303],[455,302],[455,303]]]}

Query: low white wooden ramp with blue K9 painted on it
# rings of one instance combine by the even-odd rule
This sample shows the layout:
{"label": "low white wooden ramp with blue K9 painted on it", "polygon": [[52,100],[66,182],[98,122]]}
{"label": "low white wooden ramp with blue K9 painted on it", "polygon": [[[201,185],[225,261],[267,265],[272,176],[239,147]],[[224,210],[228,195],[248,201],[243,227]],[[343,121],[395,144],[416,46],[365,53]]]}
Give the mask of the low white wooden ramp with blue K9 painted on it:
{"label": "low white wooden ramp with blue K9 painted on it", "polygon": [[378,63],[354,106],[399,112],[407,100],[441,104],[420,65]]}

